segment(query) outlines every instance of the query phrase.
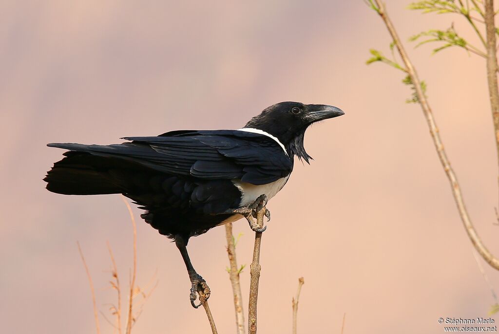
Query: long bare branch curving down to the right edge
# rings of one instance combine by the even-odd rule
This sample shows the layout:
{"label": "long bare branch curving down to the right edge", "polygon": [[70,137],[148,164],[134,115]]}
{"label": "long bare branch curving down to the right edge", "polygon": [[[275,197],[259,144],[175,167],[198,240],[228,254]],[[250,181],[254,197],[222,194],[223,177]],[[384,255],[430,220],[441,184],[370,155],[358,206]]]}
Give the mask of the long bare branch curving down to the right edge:
{"label": "long bare branch curving down to the right edge", "polygon": [[[442,143],[442,140],[439,135],[439,131],[437,128],[437,125],[435,123],[435,119],[433,117],[433,112],[430,108],[430,105],[428,104],[427,98],[423,92],[423,89],[421,88],[421,81],[418,77],[418,74],[416,73],[416,70],[412,64],[412,62],[409,60],[409,57],[404,49],[404,46],[402,45],[402,42],[392,24],[392,21],[388,17],[384,6],[382,5],[380,0],[373,0],[377,4],[377,10],[376,12],[381,16],[383,19],[388,31],[390,32],[390,35],[392,36],[393,41],[395,42],[395,45],[397,46],[397,49],[400,53],[400,56],[402,57],[405,67],[407,68],[408,74],[411,77],[412,83],[414,84],[414,89],[415,92],[418,96],[419,103],[421,105],[421,108],[423,110],[423,113],[425,115],[426,121],[428,123],[428,127],[430,129],[430,134],[433,139],[433,143],[435,145],[435,149],[437,150],[437,154],[439,156],[440,162],[442,164],[442,167],[445,170],[445,173],[447,174],[447,177],[449,178],[449,182],[451,184],[451,189],[452,193],[454,195],[454,199],[456,201],[456,205],[459,211],[459,214],[461,216],[461,220],[463,221],[464,227],[466,229],[466,232],[468,233],[468,236],[475,247],[475,249],[479,252],[479,254],[495,269],[499,270],[499,260],[485,247],[485,245],[482,242],[482,239],[477,234],[477,231],[475,230],[475,227],[473,226],[470,216],[468,215],[468,211],[466,210],[466,206],[464,203],[463,195],[461,193],[461,187],[458,183],[458,179],[456,177],[456,174],[454,173],[454,170],[451,167],[451,164],[449,162],[449,159],[447,158],[447,154],[444,149],[444,145]],[[486,0],[487,2],[492,2],[492,0]],[[489,10],[490,12],[490,10]],[[489,13],[490,16],[490,13]],[[486,19],[487,20],[487,19]],[[490,29],[488,28],[488,31]],[[487,35],[489,36],[490,33],[488,32]],[[494,48],[495,48],[495,44]],[[495,71],[494,71],[495,72]],[[498,114],[499,116],[499,114]],[[499,125],[499,117],[498,117],[498,125]],[[498,137],[499,140],[499,137]]]}

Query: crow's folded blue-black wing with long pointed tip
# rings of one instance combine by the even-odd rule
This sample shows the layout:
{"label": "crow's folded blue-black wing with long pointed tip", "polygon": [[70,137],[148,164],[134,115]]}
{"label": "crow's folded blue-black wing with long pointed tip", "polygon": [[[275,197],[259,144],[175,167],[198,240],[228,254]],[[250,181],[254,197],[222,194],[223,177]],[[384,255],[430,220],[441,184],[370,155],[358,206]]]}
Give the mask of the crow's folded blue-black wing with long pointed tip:
{"label": "crow's folded blue-black wing with long pointed tip", "polygon": [[241,179],[252,184],[288,175],[293,162],[273,139],[237,130],[173,131],[158,137],[125,137],[131,143],[48,144],[96,156],[116,157],[173,175]]}

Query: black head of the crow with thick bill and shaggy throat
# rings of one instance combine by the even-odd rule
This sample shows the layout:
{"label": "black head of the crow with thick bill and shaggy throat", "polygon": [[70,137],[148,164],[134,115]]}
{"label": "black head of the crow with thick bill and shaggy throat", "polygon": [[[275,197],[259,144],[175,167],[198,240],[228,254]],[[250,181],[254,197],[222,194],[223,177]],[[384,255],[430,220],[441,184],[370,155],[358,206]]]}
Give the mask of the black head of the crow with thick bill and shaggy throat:
{"label": "black head of the crow with thick bill and shaggy throat", "polygon": [[303,147],[305,130],[312,123],[343,115],[339,108],[323,104],[281,102],[253,117],[245,128],[258,129],[276,137],[289,156],[296,155],[308,163],[311,159]]}

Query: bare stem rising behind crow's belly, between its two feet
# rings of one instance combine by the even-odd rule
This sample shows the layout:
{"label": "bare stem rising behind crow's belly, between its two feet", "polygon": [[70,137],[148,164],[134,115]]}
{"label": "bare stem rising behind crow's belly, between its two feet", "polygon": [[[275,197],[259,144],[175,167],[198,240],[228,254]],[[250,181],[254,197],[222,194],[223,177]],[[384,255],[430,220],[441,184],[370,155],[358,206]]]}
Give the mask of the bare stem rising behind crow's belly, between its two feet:
{"label": "bare stem rising behind crow's belly, between its two feet", "polygon": [[236,258],[236,245],[234,235],[232,234],[232,223],[225,224],[225,236],[227,238],[227,255],[231,265],[229,277],[231,279],[232,293],[234,296],[234,309],[236,310],[236,326],[237,333],[244,334],[245,331],[245,314],[243,310],[243,295],[241,293],[241,282],[239,280],[238,261]]}

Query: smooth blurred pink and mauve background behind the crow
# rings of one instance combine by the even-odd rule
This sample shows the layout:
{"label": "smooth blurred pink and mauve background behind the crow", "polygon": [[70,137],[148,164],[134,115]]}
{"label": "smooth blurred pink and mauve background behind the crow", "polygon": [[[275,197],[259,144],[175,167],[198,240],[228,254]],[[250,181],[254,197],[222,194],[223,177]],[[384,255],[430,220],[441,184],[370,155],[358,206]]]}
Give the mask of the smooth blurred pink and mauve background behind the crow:
{"label": "smooth blurred pink and mauve background behind the crow", "polygon": [[[421,15],[387,0],[404,41],[461,18]],[[470,38],[473,40],[473,38]],[[487,316],[494,299],[473,257],[425,119],[403,75],[365,65],[389,54],[388,32],[362,1],[1,1],[0,319],[2,333],[94,333],[76,241],[109,315],[114,250],[123,287],[132,229],[119,195],[64,196],[41,180],[63,151],[50,142],[111,144],[177,129],[238,129],[280,101],[331,104],[345,116],[309,129],[315,159],[296,162],[268,204],[262,239],[258,333],[290,333],[303,276],[301,333],[442,333],[438,318]],[[468,209],[499,254],[498,164],[485,60],[457,49],[431,56],[406,42],[428,83]],[[159,285],[133,333],[209,333],[192,309],[175,245],[139,219],[138,277]],[[237,255],[245,312],[254,234],[240,220]],[[191,239],[212,289],[220,333],[235,332],[218,227]],[[484,264],[499,289],[499,273]],[[109,316],[110,317],[110,316]],[[497,316],[496,316],[497,319]],[[112,328],[101,319],[103,333]]]}

